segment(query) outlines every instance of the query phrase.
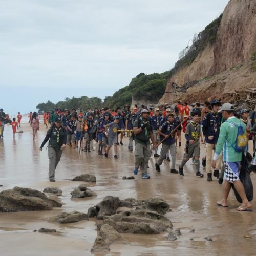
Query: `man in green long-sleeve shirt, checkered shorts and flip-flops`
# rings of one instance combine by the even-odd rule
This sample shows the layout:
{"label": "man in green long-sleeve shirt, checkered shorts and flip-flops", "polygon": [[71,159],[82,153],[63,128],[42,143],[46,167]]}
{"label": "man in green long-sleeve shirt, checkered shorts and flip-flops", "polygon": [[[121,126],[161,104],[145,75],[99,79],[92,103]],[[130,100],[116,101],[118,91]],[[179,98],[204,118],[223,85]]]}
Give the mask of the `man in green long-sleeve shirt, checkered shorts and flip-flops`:
{"label": "man in green long-sleeve shirt, checkered shorts and flip-flops", "polygon": [[251,204],[246,197],[244,186],[239,180],[239,172],[243,152],[237,152],[234,147],[238,137],[238,126],[242,125],[245,135],[246,127],[245,124],[241,122],[241,120],[234,117],[234,107],[230,103],[223,104],[221,112],[223,118],[226,121],[221,125],[220,128],[220,136],[217,142],[216,153],[214,155],[214,159],[212,160],[212,167],[216,167],[216,161],[222,152],[225,165],[225,183],[222,200],[218,201],[217,204],[222,207],[228,207],[227,197],[231,189],[231,183],[233,183],[238,194],[242,198],[242,204],[237,208],[237,210],[252,211],[252,209],[249,209]]}

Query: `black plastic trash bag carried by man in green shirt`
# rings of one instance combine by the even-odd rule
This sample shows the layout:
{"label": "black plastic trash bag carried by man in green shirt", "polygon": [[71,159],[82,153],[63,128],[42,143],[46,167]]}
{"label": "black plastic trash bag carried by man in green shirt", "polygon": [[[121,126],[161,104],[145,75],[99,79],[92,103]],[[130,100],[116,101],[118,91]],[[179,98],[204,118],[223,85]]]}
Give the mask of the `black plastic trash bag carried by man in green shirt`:
{"label": "black plastic trash bag carried by man in green shirt", "polygon": [[[244,185],[245,194],[249,202],[253,199],[253,185],[251,182],[250,170],[248,169],[251,159],[252,156],[249,152],[247,152],[246,156],[245,154],[242,155],[241,169],[239,174],[239,179]],[[242,199],[239,196],[236,188],[234,188],[234,184],[231,183],[231,187],[233,188],[234,195],[236,196],[238,202],[242,203]]]}

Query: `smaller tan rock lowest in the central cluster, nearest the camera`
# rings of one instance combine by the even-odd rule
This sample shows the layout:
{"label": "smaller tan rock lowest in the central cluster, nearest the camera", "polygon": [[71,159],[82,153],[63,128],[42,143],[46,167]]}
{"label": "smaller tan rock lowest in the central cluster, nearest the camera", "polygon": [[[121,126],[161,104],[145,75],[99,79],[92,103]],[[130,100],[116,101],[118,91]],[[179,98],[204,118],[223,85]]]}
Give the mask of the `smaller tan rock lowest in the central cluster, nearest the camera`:
{"label": "smaller tan rock lowest in the central cluster, nearest the camera", "polygon": [[113,243],[121,243],[127,244],[121,234],[119,234],[112,226],[109,224],[103,224],[98,232],[99,236],[105,240],[107,245],[111,245]]}

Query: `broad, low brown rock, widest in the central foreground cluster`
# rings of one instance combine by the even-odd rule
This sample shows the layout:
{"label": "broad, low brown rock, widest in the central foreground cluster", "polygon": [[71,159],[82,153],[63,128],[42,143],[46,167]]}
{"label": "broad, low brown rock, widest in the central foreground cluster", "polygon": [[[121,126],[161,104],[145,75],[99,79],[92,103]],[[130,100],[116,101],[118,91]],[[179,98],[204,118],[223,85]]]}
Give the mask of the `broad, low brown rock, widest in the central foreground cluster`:
{"label": "broad, low brown rock, widest in the central foreground cluster", "polygon": [[104,216],[104,224],[111,225],[120,233],[159,234],[172,229],[172,222],[155,211],[131,210]]}

